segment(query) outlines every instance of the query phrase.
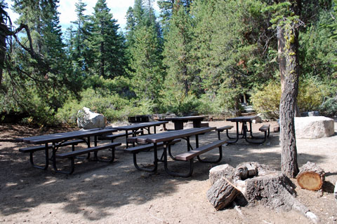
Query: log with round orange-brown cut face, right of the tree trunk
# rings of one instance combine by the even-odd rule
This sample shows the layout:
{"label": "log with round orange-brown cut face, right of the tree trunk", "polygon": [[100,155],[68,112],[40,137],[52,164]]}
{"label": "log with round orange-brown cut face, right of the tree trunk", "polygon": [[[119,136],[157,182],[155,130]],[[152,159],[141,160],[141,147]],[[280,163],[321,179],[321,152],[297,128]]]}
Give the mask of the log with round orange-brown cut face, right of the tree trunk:
{"label": "log with round orange-brown cut face, right of the tree trunk", "polygon": [[300,172],[296,176],[298,185],[307,190],[320,190],[325,179],[325,172],[314,162],[307,162],[300,167]]}

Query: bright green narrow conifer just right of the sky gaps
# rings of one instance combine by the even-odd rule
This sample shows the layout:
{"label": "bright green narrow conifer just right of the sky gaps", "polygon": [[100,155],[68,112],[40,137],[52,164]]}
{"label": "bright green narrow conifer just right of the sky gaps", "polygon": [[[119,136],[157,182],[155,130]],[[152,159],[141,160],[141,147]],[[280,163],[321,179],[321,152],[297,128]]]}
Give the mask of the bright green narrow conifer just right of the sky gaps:
{"label": "bright green narrow conifer just right of the sky gaps", "polygon": [[133,9],[128,10],[128,19],[129,73],[133,90],[140,99],[159,102],[163,84],[161,41],[152,1],[144,4],[142,0],[136,0]]}

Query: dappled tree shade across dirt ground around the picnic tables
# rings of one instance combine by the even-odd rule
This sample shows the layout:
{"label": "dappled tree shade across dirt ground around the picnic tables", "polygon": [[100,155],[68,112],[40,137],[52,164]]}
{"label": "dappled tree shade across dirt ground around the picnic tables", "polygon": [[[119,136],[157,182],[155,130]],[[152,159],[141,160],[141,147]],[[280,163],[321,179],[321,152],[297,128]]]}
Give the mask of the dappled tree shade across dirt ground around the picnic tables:
{"label": "dappled tree shade across dirt ground around the picnic tables", "polygon": [[[201,144],[206,144],[216,140],[217,134],[205,134],[199,139]],[[223,160],[216,165],[227,163],[235,167],[240,162],[253,161],[279,170],[281,155],[278,139],[278,133],[271,133],[265,144],[247,144],[241,139],[237,144],[223,146]],[[55,174],[51,168],[44,171],[30,167],[29,155],[18,152],[23,144],[7,145],[0,146],[2,216],[28,212],[44,204],[62,203],[63,212],[82,213],[84,218],[97,221],[113,214],[114,208],[143,204],[162,195],[174,194],[177,185],[192,180],[205,181],[209,178],[209,169],[216,166],[195,162],[193,176],[179,178],[166,174],[164,165],[159,163],[157,173],[150,174],[136,170],[131,154],[117,151],[116,161],[111,164],[84,161],[77,163],[72,175]],[[185,142],[173,147],[175,153],[185,151]],[[159,155],[161,152],[159,150]],[[216,156],[216,150],[207,154],[211,159]],[[321,155],[305,157],[317,162],[323,158]],[[151,164],[152,152],[140,153],[139,158],[140,163]],[[299,158],[298,162],[302,165],[306,161]],[[186,162],[170,162],[169,165],[179,172],[187,172]],[[85,211],[86,207],[91,207],[95,212]],[[107,208],[110,214],[107,214]]]}

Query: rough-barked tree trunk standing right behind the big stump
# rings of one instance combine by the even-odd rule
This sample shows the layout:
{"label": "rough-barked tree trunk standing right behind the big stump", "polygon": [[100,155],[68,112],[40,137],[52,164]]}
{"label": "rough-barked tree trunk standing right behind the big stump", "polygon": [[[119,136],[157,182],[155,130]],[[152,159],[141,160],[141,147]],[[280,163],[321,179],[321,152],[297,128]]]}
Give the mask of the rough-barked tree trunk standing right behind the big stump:
{"label": "rough-barked tree trunk standing right behind the big stump", "polygon": [[[291,1],[290,10],[299,15],[300,0]],[[294,22],[278,28],[279,68],[282,80],[282,94],[279,105],[281,169],[290,178],[298,174],[297,148],[294,127],[296,97],[298,94],[298,29]],[[285,59],[285,63],[283,61]]]}

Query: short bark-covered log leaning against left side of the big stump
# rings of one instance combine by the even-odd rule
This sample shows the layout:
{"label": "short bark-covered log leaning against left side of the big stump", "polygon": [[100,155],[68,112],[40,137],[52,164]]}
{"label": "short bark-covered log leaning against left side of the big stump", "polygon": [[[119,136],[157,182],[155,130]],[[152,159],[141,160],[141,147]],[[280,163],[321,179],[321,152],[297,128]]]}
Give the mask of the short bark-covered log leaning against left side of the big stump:
{"label": "short bark-covered log leaning against left side of the big stump", "polygon": [[209,188],[207,199],[216,210],[220,210],[232,203],[239,193],[239,190],[234,187],[231,181],[223,177]]}

